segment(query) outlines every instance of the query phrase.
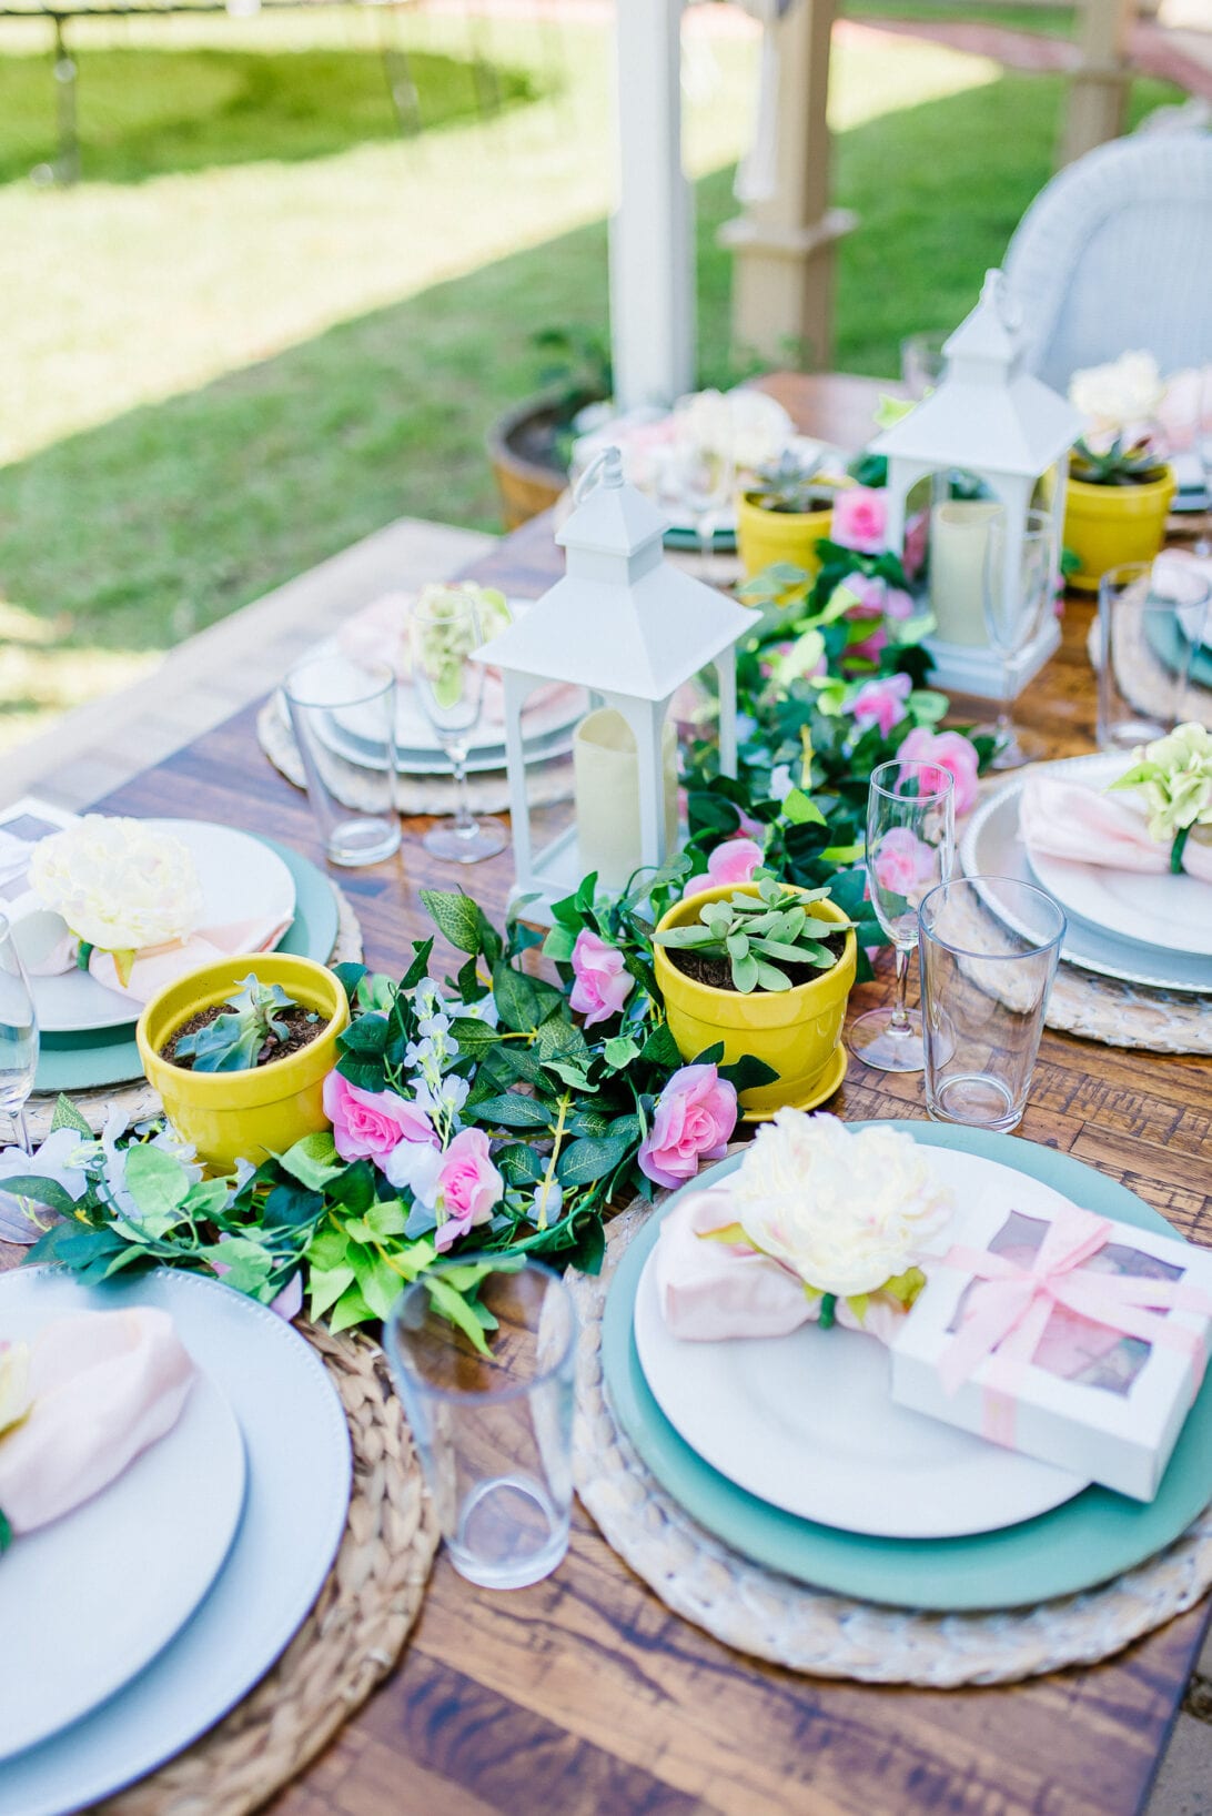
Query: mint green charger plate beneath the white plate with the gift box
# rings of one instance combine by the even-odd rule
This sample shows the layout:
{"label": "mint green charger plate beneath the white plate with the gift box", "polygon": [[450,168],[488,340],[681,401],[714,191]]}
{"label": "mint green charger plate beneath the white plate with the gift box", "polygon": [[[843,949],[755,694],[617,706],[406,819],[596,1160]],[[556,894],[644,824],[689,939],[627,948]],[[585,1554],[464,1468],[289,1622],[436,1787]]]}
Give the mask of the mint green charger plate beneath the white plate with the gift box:
{"label": "mint green charger plate beneath the white plate with the gift box", "polygon": [[[929,1148],[959,1148],[999,1160],[1099,1217],[1183,1240],[1136,1193],[1054,1148],[938,1122],[894,1120],[892,1128],[905,1130]],[[738,1166],[740,1157],[721,1160],[687,1189],[723,1179]],[[1148,1504],[1088,1487],[1063,1507],[998,1533],[867,1538],[816,1525],[758,1500],[703,1462],[674,1431],[652,1398],[636,1355],[636,1288],[669,1206],[632,1239],[611,1282],[601,1320],[605,1387],[623,1431],[661,1487],[700,1525],[743,1556],[816,1589],[863,1602],[938,1611],[1016,1607],[1076,1594],[1132,1569],[1177,1538],[1212,1500],[1212,1371],[1187,1416],[1157,1498]],[[894,1478],[889,1480],[889,1493],[896,1493]]]}

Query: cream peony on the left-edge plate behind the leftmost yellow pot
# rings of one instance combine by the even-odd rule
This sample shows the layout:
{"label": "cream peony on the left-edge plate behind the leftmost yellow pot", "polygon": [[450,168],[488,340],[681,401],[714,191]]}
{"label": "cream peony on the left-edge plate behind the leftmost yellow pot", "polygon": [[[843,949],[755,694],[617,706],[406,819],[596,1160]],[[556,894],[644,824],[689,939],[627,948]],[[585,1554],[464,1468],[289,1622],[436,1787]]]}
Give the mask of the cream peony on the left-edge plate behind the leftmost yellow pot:
{"label": "cream peony on the left-edge plate behind the leftmost yellow pot", "polygon": [[102,952],[184,939],[204,910],[198,872],[180,839],[105,814],[85,814],[35,846],[29,883],[76,939]]}

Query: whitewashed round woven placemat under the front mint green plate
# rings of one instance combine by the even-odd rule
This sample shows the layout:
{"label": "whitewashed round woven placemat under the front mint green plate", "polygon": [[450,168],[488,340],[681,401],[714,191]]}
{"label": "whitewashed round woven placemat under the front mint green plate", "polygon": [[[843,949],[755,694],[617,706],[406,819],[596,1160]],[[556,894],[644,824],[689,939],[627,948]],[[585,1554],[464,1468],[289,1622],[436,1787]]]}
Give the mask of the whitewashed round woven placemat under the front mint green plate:
{"label": "whitewashed round woven placemat under the front mint green plate", "polygon": [[647,1206],[611,1224],[601,1275],[569,1275],[581,1318],[572,1471],[607,1544],[661,1602],[725,1645],[865,1683],[1010,1683],[1088,1665],[1194,1607],[1212,1584],[1212,1505],[1167,1551],[1085,1594],[992,1614],[927,1614],[809,1589],[712,1538],[651,1475],[601,1380],[601,1308]]}

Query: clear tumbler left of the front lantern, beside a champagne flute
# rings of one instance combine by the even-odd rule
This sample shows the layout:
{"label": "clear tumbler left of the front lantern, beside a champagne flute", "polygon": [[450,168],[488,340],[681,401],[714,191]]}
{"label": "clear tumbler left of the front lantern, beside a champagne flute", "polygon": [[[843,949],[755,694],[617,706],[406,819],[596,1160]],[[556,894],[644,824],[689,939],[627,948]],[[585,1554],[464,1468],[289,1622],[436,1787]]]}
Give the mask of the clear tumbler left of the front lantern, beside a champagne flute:
{"label": "clear tumbler left of the front lantern, beside a champagne flute", "polygon": [[380,864],[400,848],[392,670],[316,656],[285,677],[285,699],[329,863]]}

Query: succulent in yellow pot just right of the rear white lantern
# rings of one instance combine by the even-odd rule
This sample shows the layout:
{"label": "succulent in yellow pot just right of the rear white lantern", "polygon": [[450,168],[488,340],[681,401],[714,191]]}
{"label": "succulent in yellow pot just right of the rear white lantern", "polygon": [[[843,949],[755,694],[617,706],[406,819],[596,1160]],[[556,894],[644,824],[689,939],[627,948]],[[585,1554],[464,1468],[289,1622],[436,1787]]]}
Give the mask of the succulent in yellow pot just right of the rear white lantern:
{"label": "succulent in yellow pot just right of the rear white lantern", "polygon": [[1143,434],[1118,434],[1103,449],[1088,438],[1074,445],[1065,492],[1065,547],[1081,563],[1070,587],[1098,592],[1108,568],[1152,561],[1165,541],[1174,498],[1174,469]]}

